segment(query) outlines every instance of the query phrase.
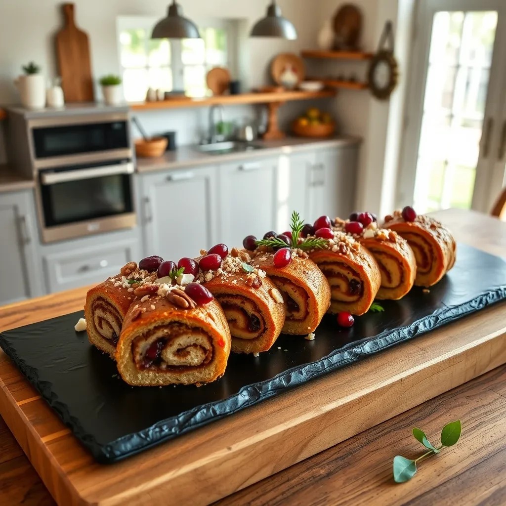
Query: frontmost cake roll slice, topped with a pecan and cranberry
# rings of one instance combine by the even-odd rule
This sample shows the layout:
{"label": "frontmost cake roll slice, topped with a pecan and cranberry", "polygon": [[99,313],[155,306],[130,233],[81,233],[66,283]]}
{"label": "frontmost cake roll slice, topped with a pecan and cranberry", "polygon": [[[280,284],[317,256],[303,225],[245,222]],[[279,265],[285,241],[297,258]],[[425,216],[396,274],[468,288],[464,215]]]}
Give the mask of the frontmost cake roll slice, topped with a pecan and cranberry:
{"label": "frontmost cake roll slice, topped with a pecan and cranberry", "polygon": [[127,312],[115,351],[118,372],[133,386],[202,385],[220,378],[231,337],[212,294],[197,283],[152,285]]}

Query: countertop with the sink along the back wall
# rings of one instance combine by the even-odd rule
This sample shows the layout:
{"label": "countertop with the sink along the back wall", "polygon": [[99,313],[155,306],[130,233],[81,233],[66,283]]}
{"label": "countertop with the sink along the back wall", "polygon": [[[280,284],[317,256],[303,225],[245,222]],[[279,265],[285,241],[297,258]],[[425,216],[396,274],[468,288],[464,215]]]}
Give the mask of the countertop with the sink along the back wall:
{"label": "countertop with the sink along the back wall", "polygon": [[351,146],[362,142],[360,137],[341,136],[330,139],[311,139],[302,137],[286,137],[274,141],[255,141],[262,149],[213,155],[198,150],[197,146],[181,146],[175,151],[167,151],[159,158],[137,158],[137,172],[166,171],[177,168],[195,167],[197,165],[213,165],[244,158],[262,158],[276,154],[290,154],[310,149],[323,149],[335,146]]}

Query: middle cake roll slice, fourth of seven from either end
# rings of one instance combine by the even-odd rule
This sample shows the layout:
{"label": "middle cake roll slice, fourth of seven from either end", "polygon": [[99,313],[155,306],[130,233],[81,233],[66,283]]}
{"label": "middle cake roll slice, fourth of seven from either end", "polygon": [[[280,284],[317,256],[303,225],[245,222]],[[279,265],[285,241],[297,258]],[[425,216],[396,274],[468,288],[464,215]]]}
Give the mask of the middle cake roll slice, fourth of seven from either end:
{"label": "middle cake roll slice, fourth of seven from either end", "polygon": [[253,265],[267,273],[281,292],[286,309],[282,333],[304,335],[314,332],[330,307],[330,286],[308,254],[285,248],[286,265],[276,266],[276,252],[261,246],[252,258]]}

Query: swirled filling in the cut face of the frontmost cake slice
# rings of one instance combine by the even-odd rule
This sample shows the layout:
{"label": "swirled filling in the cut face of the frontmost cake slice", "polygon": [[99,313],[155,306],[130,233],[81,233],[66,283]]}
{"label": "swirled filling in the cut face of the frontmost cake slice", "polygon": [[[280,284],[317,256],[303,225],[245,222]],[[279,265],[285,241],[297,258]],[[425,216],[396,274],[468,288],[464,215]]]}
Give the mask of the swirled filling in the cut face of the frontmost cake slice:
{"label": "swirled filling in the cut face of the frontmost cake slice", "polygon": [[213,359],[213,340],[199,327],[171,322],[149,329],[132,341],[138,370],[188,372]]}

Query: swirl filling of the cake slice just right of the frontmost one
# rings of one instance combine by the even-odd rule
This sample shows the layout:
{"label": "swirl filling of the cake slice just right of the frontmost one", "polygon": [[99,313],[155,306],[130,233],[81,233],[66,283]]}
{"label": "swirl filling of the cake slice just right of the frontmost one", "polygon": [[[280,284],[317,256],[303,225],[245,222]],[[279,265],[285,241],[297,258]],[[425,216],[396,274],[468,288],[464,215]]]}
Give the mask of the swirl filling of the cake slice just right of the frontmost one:
{"label": "swirl filling of the cake slice just right of the frontmost one", "polygon": [[219,294],[220,303],[233,338],[259,339],[267,330],[266,323],[257,304],[240,295]]}

